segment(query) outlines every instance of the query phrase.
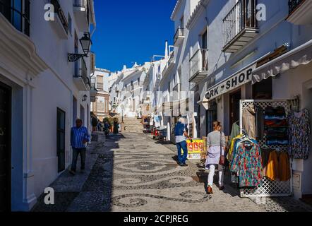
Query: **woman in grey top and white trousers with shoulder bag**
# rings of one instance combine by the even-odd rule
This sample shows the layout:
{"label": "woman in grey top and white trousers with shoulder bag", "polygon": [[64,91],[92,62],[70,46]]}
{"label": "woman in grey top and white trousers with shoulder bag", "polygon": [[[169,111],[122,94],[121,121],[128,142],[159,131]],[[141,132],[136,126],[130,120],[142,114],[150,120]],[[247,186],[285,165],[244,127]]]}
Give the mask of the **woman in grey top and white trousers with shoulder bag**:
{"label": "woman in grey top and white trousers with shoulder bag", "polygon": [[208,194],[213,194],[212,184],[215,175],[215,167],[218,166],[219,171],[219,189],[224,189],[224,163],[225,163],[225,136],[221,131],[222,126],[220,121],[213,122],[214,131],[207,136],[207,159],[205,162],[205,169],[209,169],[208,175]]}

